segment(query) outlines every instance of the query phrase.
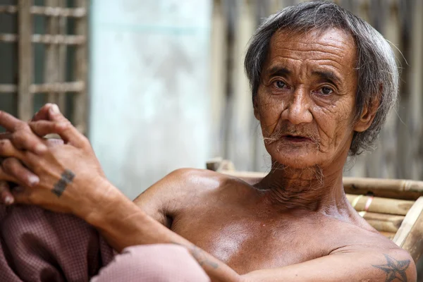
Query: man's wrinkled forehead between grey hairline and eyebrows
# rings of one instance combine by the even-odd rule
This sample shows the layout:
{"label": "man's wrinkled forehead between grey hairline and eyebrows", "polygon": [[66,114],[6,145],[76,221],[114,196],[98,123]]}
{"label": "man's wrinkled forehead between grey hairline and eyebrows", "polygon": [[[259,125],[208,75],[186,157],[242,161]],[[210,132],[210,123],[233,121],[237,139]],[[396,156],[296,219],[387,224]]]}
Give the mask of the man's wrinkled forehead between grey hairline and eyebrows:
{"label": "man's wrinkled forehead between grey hairline and eyebrows", "polygon": [[337,28],[305,32],[278,30],[271,37],[265,67],[272,68],[284,59],[313,61],[348,74],[357,65],[357,50],[353,36]]}

